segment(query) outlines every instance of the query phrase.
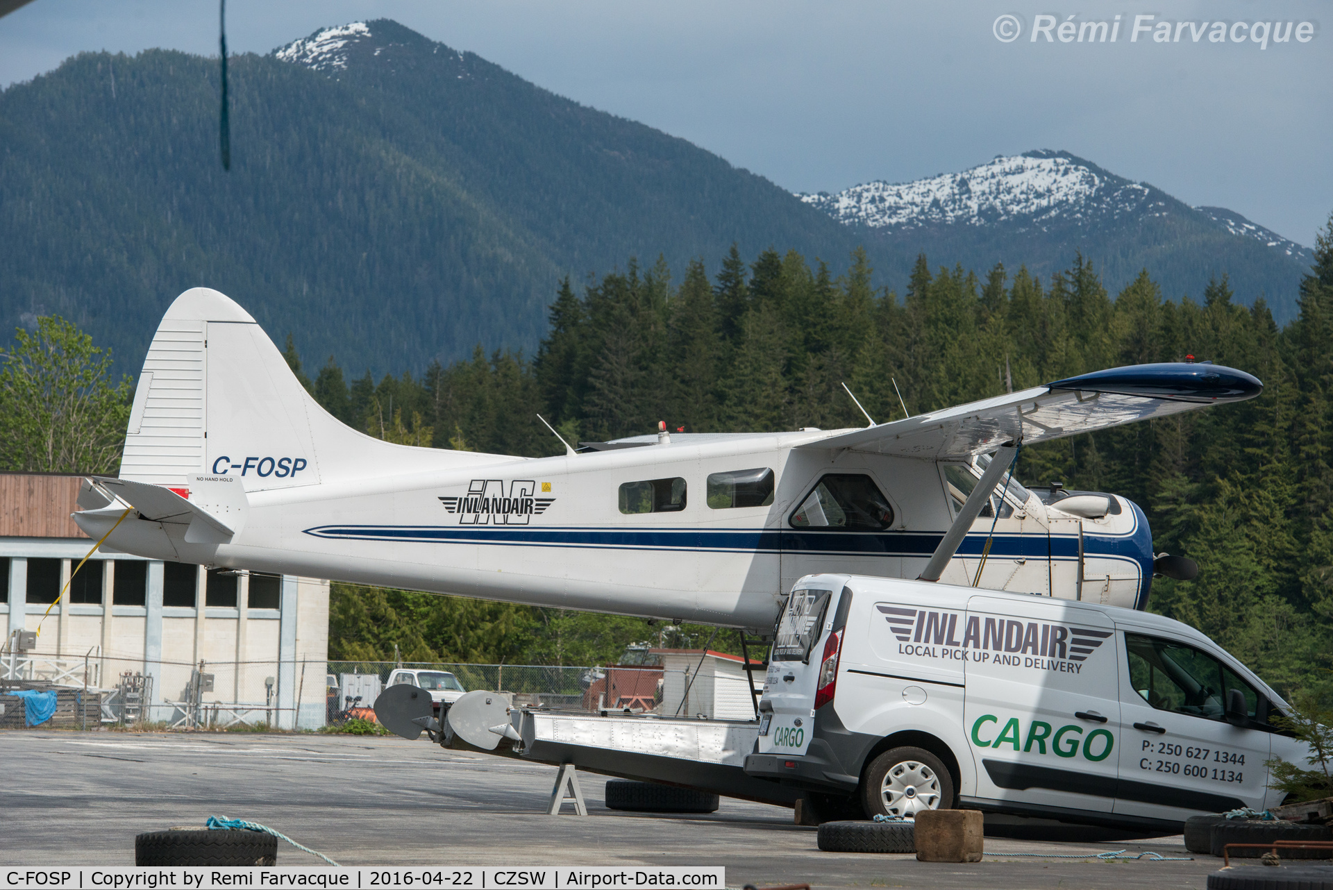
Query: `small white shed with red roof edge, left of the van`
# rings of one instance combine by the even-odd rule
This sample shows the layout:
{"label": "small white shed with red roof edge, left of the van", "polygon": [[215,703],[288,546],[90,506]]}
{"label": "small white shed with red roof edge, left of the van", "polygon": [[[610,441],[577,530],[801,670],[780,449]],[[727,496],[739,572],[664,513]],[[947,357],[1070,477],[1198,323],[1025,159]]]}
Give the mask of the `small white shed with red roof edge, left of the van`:
{"label": "small white shed with red roof edge, left of the van", "polygon": [[[712,649],[653,649],[652,654],[661,658],[663,665],[659,714],[672,717],[678,713],[681,717],[704,715],[712,719],[754,717],[748,686],[753,683],[756,694],[762,694],[764,671],[746,673],[740,656]],[[750,664],[761,662],[750,658]]]}

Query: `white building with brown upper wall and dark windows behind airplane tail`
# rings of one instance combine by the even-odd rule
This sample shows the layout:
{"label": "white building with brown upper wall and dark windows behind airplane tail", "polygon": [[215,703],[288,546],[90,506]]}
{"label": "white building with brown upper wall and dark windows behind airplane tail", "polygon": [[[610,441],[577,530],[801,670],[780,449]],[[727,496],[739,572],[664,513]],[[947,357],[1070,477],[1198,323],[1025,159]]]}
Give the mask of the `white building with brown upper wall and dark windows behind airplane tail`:
{"label": "white building with brown upper wall and dark windows behind airplane tail", "polygon": [[52,605],[92,548],[69,518],[81,480],[0,473],[0,624],[7,638],[41,624],[35,650],[0,656],[0,677],[83,686],[87,675],[111,690],[140,673],[152,678],[149,719],[173,723],[203,661],[213,687],[197,698],[212,719],[323,726],[328,581],[97,552]]}

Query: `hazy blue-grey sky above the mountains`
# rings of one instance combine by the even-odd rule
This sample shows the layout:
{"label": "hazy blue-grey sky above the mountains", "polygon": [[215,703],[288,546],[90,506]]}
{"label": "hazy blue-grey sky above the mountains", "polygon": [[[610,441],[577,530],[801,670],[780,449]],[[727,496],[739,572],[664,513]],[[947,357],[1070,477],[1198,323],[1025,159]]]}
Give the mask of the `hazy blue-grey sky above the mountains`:
{"label": "hazy blue-grey sky above the mountains", "polygon": [[[1333,211],[1333,33],[1321,20],[1330,8],[232,0],[227,31],[232,52],[268,52],[324,25],[396,19],[792,191],[905,181],[1058,148],[1309,245]],[[1058,40],[1070,17],[1114,24],[1117,13],[1114,43]],[[1008,43],[1000,37],[1014,21],[1001,15],[1018,24]],[[1056,16],[1054,40],[1032,40],[1041,15]],[[1130,40],[1136,20],[1170,21],[1172,41],[1154,43],[1150,31]],[[1218,20],[1226,40],[1210,43],[1213,25],[1198,25]],[[1248,39],[1256,20],[1312,28],[1265,45]],[[216,55],[217,4],[35,0],[0,19],[0,84],[80,51],[151,47]]]}

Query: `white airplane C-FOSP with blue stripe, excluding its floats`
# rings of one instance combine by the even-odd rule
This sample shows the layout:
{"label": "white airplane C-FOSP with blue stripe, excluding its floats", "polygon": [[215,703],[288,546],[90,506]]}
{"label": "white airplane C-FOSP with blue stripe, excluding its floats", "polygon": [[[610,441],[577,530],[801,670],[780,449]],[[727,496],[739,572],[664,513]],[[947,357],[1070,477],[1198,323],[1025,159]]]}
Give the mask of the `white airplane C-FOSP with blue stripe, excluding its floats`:
{"label": "white airplane C-FOSP with blue stripe, excluding its floats", "polygon": [[1024,488],[1016,452],[1261,390],[1206,362],[1136,365],[864,429],[479,454],[343,425],[255,318],[193,288],[149,346],[120,477],[88,478],[73,518],[155,560],[758,632],[817,572],[1142,609],[1189,561],[1154,556],[1120,496]]}

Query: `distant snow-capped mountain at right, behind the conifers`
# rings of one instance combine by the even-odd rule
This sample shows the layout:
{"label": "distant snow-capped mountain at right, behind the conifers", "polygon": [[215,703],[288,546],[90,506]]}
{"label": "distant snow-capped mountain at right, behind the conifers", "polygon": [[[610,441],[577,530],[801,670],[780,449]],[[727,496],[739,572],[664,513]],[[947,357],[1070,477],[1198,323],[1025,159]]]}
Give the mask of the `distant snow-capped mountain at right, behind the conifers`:
{"label": "distant snow-capped mountain at right, behind the conifers", "polygon": [[1197,298],[1209,278],[1226,274],[1240,302],[1264,296],[1280,321],[1294,314],[1296,286],[1312,261],[1308,248],[1240,213],[1189,207],[1049,149],[997,156],[961,173],[796,197],[866,240],[964,268],[1022,264],[1050,276],[1078,252],[1112,289],[1146,269],[1172,298]]}

